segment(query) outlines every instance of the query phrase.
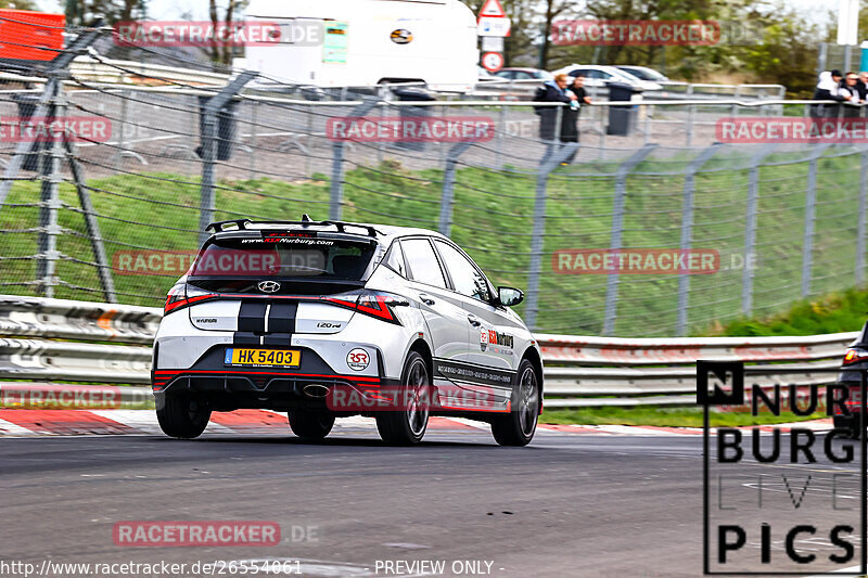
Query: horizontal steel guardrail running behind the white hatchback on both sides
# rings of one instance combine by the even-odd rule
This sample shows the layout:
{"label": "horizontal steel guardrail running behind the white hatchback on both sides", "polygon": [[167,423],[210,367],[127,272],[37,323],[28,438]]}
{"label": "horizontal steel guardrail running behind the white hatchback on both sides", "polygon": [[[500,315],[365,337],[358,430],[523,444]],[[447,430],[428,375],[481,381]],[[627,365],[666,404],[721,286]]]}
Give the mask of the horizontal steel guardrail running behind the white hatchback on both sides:
{"label": "horizontal steel guardrail running behind the white hatchback on both sides", "polygon": [[[154,307],[0,295],[0,380],[150,383],[152,349],[145,345],[162,316]],[[689,404],[697,359],[743,361],[762,386],[825,384],[857,337],[536,335],[550,408]]]}

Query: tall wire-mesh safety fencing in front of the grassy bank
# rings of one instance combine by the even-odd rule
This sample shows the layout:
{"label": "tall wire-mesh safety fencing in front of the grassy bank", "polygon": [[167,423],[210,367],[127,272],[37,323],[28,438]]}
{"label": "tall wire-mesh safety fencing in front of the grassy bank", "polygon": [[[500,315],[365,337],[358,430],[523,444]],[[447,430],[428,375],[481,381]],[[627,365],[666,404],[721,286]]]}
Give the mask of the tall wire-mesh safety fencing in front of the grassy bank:
{"label": "tall wire-mesh safety fencing in front of the grassy bank", "polygon": [[[0,292],[159,305],[204,224],[303,214],[447,233],[495,284],[526,291],[518,310],[546,333],[693,334],[864,281],[868,149],[719,142],[722,118],[801,117],[808,102],[598,102],[564,144],[540,139],[542,106],[526,101],[266,87],[253,74],[208,85],[89,57],[130,82],[67,63],[0,90],[0,119],[65,118],[75,137],[0,139]],[[359,117],[493,130],[337,134]],[[621,252],[655,267],[591,265]],[[666,269],[666,252],[713,262]]]}

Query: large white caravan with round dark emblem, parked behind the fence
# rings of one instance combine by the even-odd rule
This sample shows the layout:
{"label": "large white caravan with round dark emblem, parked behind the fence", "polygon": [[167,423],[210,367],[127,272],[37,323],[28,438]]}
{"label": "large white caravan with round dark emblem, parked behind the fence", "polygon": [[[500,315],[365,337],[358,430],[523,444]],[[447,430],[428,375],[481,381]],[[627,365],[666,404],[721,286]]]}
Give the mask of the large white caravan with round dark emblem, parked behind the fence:
{"label": "large white caravan with round dark emblem, parked behind the fence", "polygon": [[[252,0],[248,23],[321,26],[318,43],[248,46],[237,67],[316,87],[422,81],[465,92],[476,84],[476,20],[459,0]],[[312,46],[311,46],[312,44]]]}

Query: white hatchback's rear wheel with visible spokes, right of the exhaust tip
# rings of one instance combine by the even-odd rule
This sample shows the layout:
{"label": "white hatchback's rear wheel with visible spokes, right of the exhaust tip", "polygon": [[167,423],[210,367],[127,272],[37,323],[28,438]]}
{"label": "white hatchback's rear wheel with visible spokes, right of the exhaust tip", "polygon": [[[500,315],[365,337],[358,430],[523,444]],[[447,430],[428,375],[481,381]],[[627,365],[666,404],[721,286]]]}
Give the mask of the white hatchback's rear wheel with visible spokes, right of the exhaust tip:
{"label": "white hatchback's rear wheel with visible spokes, right of the exhaust tip", "polygon": [[410,388],[401,402],[401,411],[384,411],[376,415],[380,437],[391,446],[419,444],[427,428],[431,380],[425,359],[410,351],[400,374],[403,387]]}

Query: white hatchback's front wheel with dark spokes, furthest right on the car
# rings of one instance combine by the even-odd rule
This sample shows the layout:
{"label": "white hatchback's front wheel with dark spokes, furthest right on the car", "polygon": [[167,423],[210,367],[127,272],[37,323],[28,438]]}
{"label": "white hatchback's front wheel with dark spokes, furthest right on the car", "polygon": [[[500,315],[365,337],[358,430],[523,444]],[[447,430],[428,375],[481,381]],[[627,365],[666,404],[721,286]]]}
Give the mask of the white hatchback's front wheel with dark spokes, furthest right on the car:
{"label": "white hatchback's front wheel with dark spokes, furthest right on the car", "polygon": [[492,434],[500,446],[526,446],[534,439],[539,419],[539,376],[533,363],[522,360],[512,388],[510,412],[492,420]]}

